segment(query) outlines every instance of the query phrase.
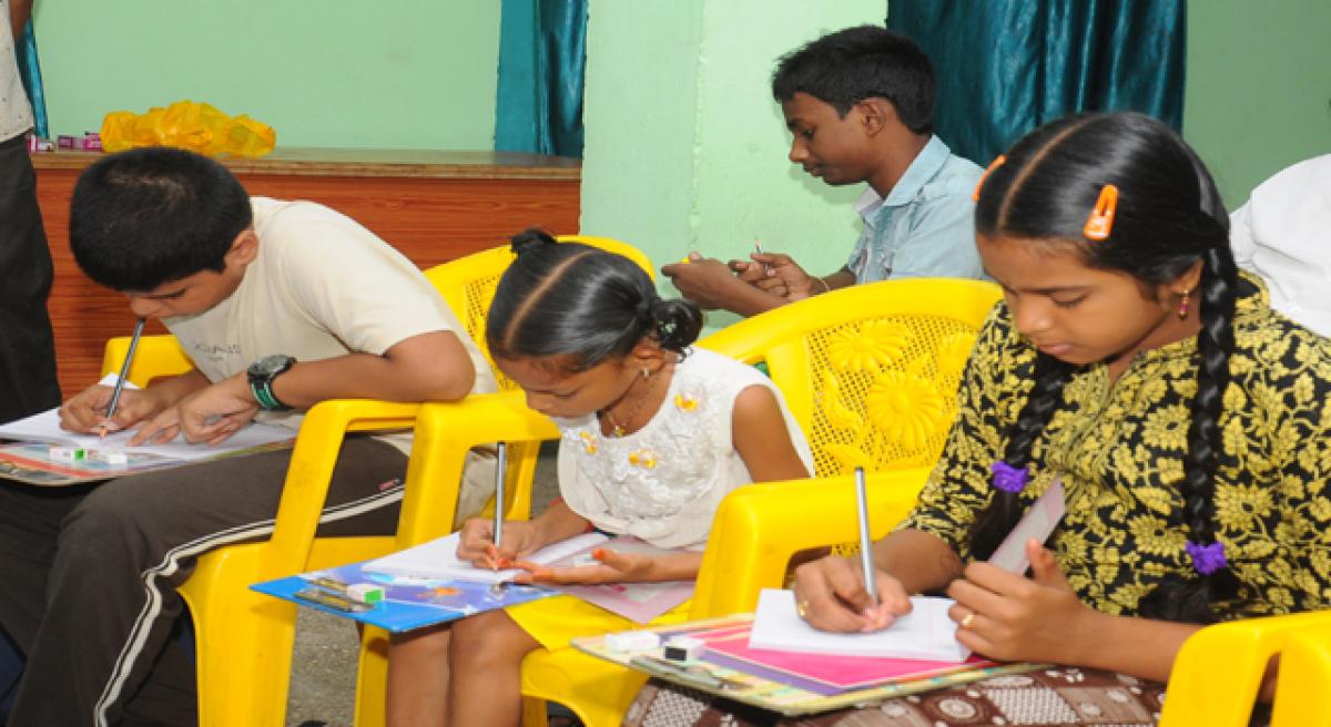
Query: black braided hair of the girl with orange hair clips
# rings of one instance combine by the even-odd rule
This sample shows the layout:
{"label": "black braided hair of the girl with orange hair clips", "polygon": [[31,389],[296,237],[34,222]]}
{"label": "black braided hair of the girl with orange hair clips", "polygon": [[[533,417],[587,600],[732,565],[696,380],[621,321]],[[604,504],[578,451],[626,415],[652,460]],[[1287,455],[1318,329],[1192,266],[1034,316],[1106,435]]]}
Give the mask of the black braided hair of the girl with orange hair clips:
{"label": "black braided hair of the girl with orange hair clips", "polygon": [[[1202,262],[1198,287],[1202,330],[1197,336],[1197,393],[1179,485],[1187,540],[1215,542],[1214,473],[1223,456],[1218,420],[1230,381],[1238,268],[1229,245],[1229,217],[1210,173],[1165,124],[1135,113],[1067,117],[1018,141],[984,178],[976,205],[982,238],[1070,245],[1097,268],[1135,278],[1143,295]],[[1091,209],[1106,185],[1118,189],[1110,234],[1085,237]],[[1008,432],[1002,461],[1026,467],[1032,447],[1062,403],[1077,367],[1037,354],[1034,387]],[[994,488],[972,532],[972,553],[989,557],[1021,516],[1017,494]],[[1209,575],[1170,575],[1139,603],[1151,618],[1209,623],[1211,603],[1231,598],[1238,581],[1229,568]]]}

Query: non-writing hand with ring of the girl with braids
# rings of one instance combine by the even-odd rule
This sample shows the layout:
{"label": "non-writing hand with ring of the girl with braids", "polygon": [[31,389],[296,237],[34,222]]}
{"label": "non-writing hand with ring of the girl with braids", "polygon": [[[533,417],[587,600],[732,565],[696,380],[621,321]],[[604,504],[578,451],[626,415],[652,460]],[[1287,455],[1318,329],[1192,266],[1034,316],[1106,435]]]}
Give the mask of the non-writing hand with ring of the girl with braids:
{"label": "non-writing hand with ring of the girl with braids", "polygon": [[1051,552],[1032,538],[1026,556],[1032,578],[973,562],[948,586],[957,601],[948,615],[966,623],[957,641],[994,659],[1077,663],[1077,645],[1097,614],[1077,598]]}

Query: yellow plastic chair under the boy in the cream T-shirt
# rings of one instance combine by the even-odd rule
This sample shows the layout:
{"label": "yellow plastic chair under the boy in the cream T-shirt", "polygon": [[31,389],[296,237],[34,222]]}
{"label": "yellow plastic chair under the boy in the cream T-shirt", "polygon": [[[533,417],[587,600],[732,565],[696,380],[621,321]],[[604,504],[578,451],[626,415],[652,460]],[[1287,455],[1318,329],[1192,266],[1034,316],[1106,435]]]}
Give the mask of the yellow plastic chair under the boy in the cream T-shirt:
{"label": "yellow plastic chair under the boy in the cream T-shirt", "polygon": [[[437,266],[426,276],[475,335],[488,296],[511,260],[508,247],[502,246]],[[102,369],[118,371],[126,348],[128,339],[108,342]],[[154,376],[190,367],[173,336],[144,336],[129,379],[144,385]],[[220,548],[198,558],[180,593],[194,621],[201,727],[285,722],[295,606],[249,586],[394,549],[391,536],[315,538],[314,533],[346,433],[410,428],[418,409],[419,404],[375,400],[329,400],[310,408],[291,452],[272,538]],[[534,469],[534,451],[519,452],[518,459],[519,467]]]}

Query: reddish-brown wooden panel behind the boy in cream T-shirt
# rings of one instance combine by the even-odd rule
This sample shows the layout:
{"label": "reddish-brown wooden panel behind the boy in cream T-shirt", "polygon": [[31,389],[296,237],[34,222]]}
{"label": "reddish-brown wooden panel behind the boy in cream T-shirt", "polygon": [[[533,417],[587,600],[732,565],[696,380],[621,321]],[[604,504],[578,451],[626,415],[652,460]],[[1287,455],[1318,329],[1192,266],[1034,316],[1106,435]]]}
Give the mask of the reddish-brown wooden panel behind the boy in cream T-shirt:
{"label": "reddish-brown wooden panel behind the boy in cream T-shirt", "polygon": [[[311,150],[297,156],[310,157]],[[337,153],[334,153],[337,154]],[[229,165],[254,195],[310,199],[357,219],[422,267],[503,243],[527,226],[576,233],[579,170],[568,159],[475,154],[467,163],[335,163],[278,156]],[[407,153],[399,153],[407,154]],[[290,157],[290,154],[289,154]],[[500,157],[500,158],[495,158]],[[128,335],[133,315],[120,294],[85,278],[69,253],[69,197],[93,154],[37,156],[37,194],[56,264],[49,310],[60,385],[68,397],[96,380],[102,344]],[[148,332],[165,332],[152,322]]]}

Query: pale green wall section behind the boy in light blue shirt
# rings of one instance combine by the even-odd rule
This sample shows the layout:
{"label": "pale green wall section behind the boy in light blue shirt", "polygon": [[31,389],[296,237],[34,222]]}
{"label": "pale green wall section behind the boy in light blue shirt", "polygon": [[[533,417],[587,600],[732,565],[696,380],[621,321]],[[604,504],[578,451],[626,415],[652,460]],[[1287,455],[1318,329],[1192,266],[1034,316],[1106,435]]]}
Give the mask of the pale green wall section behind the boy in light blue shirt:
{"label": "pale green wall section behind the boy in light blue shirt", "polygon": [[[828,31],[882,23],[882,0],[591,0],[582,229],[658,264],[689,250],[768,251],[840,267],[858,189],[832,189],[787,159],[769,80],[781,53]],[[662,283],[662,291],[675,295]],[[727,323],[709,318],[709,327]]]}

